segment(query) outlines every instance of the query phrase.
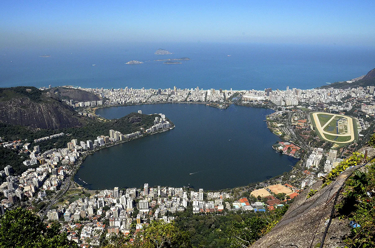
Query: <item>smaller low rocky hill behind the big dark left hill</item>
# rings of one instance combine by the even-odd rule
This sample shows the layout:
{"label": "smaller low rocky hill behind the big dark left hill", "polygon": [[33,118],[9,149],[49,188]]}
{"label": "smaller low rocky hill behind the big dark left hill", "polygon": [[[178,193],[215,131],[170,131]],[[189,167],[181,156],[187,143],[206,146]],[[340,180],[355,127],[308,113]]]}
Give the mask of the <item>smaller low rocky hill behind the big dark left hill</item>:
{"label": "smaller low rocky hill behind the big dark left hill", "polygon": [[73,99],[77,102],[87,102],[87,101],[100,101],[103,100],[102,97],[99,97],[93,93],[72,88],[56,87],[49,90],[49,93],[54,94],[59,99]]}

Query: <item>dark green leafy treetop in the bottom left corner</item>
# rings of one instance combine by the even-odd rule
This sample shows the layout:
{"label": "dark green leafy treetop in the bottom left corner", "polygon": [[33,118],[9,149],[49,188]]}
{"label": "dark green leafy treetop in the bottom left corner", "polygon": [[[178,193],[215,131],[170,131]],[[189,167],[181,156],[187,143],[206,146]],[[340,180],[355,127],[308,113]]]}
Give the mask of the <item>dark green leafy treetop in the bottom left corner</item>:
{"label": "dark green leafy treetop in the bottom left corner", "polygon": [[68,241],[66,233],[60,233],[60,224],[49,228],[37,215],[17,208],[7,211],[0,219],[0,246],[3,248],[78,248]]}

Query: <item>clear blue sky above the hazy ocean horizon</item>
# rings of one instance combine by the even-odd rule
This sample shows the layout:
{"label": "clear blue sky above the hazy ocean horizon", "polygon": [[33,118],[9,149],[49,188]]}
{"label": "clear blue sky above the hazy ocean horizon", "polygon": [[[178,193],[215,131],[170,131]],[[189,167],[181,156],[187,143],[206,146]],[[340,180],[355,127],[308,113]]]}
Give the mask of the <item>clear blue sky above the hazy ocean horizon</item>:
{"label": "clear blue sky above the hazy ocean horizon", "polygon": [[8,1],[0,46],[256,42],[372,46],[375,1]]}

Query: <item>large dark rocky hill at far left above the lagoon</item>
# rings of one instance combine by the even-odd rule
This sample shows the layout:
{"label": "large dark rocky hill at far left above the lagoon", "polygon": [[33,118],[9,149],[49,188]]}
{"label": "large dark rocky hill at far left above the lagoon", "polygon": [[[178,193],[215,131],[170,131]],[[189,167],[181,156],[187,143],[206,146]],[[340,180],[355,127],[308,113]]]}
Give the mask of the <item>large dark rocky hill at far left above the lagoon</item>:
{"label": "large dark rocky hill at far left above the lagoon", "polygon": [[82,126],[87,120],[49,92],[15,87],[0,88],[0,122],[57,129]]}

